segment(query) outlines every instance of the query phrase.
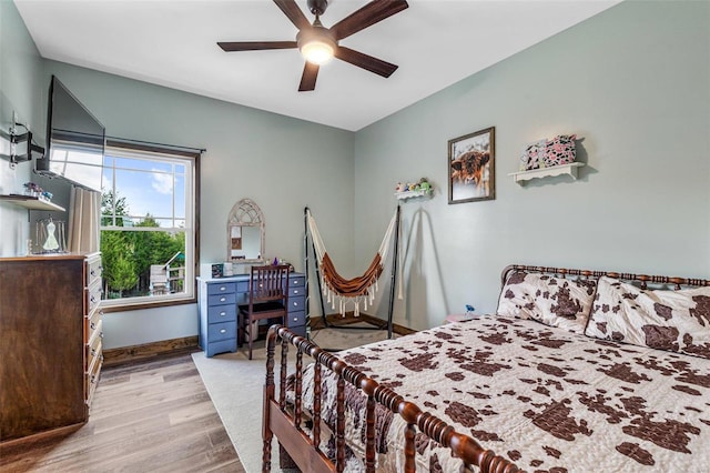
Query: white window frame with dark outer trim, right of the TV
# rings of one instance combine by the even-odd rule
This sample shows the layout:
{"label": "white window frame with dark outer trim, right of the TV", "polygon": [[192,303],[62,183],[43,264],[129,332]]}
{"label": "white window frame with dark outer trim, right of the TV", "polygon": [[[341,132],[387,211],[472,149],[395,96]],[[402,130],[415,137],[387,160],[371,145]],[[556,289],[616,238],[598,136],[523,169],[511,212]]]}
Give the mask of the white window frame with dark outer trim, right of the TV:
{"label": "white window frame with dark outer trim, right of the TV", "polygon": [[[170,148],[155,147],[151,144],[135,144],[132,142],[109,141],[105,148],[105,155],[128,159],[143,159],[155,162],[180,162],[185,165],[185,227],[183,228],[126,228],[115,225],[101,225],[101,231],[184,231],[185,233],[185,279],[184,292],[179,294],[160,294],[143,295],[123,299],[106,299],[101,301],[104,312],[119,312],[126,310],[151,309],[156,306],[176,305],[196,302],[196,262],[200,260],[197,231],[199,222],[199,189],[200,189],[200,152],[185,152],[182,150],[173,150]],[[113,168],[114,178],[112,179],[113,195],[120,197],[120,188],[116,193],[115,170]],[[103,173],[102,173],[103,175]],[[173,191],[174,192],[174,191]],[[175,224],[175,201],[173,194],[173,225]],[[102,215],[103,217],[103,215]],[[120,215],[123,217],[123,215]],[[143,218],[145,215],[129,215],[129,218]],[[152,215],[159,221],[164,221],[165,215]],[[115,218],[115,215],[114,215]],[[182,220],[182,219],[180,219]],[[129,230],[130,229],[130,230]]]}

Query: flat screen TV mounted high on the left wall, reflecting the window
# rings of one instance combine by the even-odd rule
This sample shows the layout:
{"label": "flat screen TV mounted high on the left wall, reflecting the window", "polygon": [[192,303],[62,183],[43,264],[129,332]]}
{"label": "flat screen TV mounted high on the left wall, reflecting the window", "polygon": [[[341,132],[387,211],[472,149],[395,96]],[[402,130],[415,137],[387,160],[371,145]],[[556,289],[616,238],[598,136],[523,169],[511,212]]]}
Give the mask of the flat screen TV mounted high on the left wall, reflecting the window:
{"label": "flat screen TV mounted high on the left wall, reflecting the window", "polygon": [[47,114],[47,153],[37,172],[100,191],[105,128],[52,76]]}

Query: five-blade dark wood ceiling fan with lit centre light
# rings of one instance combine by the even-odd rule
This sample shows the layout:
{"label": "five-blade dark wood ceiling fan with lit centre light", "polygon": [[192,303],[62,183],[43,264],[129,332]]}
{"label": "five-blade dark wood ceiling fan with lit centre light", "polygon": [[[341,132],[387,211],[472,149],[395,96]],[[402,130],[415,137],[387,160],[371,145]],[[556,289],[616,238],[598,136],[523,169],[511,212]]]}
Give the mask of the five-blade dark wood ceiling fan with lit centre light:
{"label": "five-blade dark wood ceiling fan with lit centre light", "polygon": [[306,59],[298,85],[300,92],[315,89],[321,64],[333,57],[384,78],[397,70],[395,64],[339,46],[338,41],[408,8],[409,4],[405,0],[373,0],[331,28],[321,23],[321,16],[328,7],[327,0],[308,0],[308,10],[315,14],[313,24],[308,22],[295,0],[274,0],[274,3],[298,28],[295,41],[233,41],[217,42],[217,46],[226,52],[298,48]]}

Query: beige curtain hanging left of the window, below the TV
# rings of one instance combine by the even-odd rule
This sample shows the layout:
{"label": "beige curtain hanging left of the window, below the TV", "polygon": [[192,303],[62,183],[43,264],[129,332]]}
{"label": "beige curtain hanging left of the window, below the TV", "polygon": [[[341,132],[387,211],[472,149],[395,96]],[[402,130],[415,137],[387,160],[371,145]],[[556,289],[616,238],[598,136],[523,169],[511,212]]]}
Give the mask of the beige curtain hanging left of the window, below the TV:
{"label": "beige curtain hanging left of the window, below the TV", "polygon": [[95,253],[99,251],[99,221],[101,193],[73,187],[69,201],[69,251]]}

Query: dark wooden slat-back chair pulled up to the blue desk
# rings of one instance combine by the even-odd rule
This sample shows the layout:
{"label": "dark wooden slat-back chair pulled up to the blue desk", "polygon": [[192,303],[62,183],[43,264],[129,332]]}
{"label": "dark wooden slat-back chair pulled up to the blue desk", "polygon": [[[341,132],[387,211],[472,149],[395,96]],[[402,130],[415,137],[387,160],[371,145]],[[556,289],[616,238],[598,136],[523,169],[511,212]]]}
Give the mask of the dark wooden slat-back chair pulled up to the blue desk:
{"label": "dark wooden slat-back chair pulled up to the blue desk", "polygon": [[[252,266],[248,288],[248,304],[240,305],[240,331],[248,340],[248,359],[252,359],[252,342],[256,339],[257,322],[280,318],[288,325],[288,265]],[[247,334],[248,332],[248,334]]]}

